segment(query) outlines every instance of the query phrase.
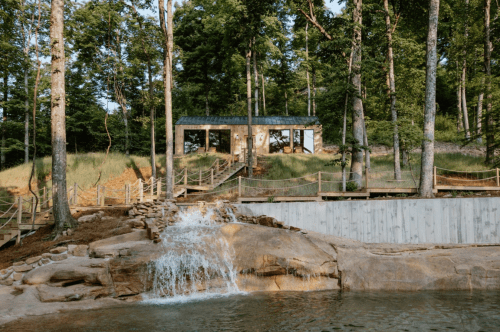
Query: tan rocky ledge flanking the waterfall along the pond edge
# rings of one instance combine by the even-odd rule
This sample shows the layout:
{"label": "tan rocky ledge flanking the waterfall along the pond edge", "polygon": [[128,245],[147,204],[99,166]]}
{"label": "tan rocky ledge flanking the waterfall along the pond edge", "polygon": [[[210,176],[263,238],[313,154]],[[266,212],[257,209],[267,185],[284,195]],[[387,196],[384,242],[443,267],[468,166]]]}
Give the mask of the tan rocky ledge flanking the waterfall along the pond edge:
{"label": "tan rocky ledge flanking the waterfall along the pond edge", "polygon": [[[227,204],[214,211],[243,291],[500,289],[496,245],[366,244],[239,215]],[[0,323],[141,300],[152,287],[150,262],[164,254],[159,233],[178,212],[172,202],[140,204],[125,221],[132,233],[54,248],[0,271]]]}

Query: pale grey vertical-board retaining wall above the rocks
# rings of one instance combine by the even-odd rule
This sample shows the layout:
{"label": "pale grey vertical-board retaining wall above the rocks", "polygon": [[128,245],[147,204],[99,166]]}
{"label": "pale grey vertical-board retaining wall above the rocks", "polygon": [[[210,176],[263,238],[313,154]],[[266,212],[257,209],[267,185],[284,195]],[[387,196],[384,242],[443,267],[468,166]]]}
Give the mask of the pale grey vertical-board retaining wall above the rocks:
{"label": "pale grey vertical-board retaining wall above the rocks", "polygon": [[236,206],[243,214],[369,243],[500,243],[500,197]]}

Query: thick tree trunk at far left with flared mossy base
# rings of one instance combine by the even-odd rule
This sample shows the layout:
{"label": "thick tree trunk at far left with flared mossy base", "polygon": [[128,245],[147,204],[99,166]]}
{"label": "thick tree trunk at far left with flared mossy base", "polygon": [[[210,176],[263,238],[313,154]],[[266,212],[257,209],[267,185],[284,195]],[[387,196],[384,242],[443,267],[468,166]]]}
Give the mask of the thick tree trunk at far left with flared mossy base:
{"label": "thick tree trunk at far left with flared mossy base", "polygon": [[76,226],[71,216],[66,190],[66,118],[64,86],[64,0],[52,0],[50,13],[51,68],[51,133],[52,133],[52,199],[54,234],[66,225]]}

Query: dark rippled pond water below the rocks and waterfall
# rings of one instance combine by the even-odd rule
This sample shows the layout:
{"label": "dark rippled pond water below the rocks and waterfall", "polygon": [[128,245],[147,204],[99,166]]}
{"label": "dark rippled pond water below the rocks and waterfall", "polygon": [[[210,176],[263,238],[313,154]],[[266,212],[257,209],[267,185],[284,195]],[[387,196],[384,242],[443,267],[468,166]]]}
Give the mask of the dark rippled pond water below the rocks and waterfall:
{"label": "dark rippled pond water below the rocks and waterfall", "polygon": [[500,331],[500,291],[280,292],[31,317],[8,331]]}

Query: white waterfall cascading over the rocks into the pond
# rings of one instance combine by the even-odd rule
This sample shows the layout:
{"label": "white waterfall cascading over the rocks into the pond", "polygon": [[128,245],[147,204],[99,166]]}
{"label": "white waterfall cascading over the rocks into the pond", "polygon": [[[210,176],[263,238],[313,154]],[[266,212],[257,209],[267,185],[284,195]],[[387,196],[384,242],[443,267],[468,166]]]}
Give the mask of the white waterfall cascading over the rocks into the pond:
{"label": "white waterfall cascading over the rocks into the pond", "polygon": [[220,233],[216,212],[205,207],[180,211],[180,221],[161,234],[165,253],[149,266],[150,300],[177,302],[239,292],[233,252]]}

